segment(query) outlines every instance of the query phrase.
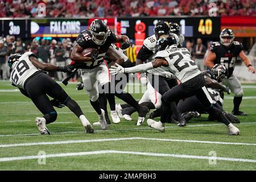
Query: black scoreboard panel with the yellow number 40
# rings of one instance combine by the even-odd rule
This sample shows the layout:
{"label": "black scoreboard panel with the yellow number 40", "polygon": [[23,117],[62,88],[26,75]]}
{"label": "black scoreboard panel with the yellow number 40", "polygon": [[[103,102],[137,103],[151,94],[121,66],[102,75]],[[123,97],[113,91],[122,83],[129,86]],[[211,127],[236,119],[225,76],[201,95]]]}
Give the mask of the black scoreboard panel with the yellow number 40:
{"label": "black scoreboard panel with the yellow number 40", "polygon": [[[181,34],[194,38],[218,38],[220,35],[219,17],[159,17],[159,18],[117,18],[119,32],[129,38],[135,38],[134,34],[145,33],[145,36],[154,34],[154,26],[158,20],[166,20],[180,25]],[[138,28],[141,28],[138,29]],[[143,32],[142,32],[143,30]]]}

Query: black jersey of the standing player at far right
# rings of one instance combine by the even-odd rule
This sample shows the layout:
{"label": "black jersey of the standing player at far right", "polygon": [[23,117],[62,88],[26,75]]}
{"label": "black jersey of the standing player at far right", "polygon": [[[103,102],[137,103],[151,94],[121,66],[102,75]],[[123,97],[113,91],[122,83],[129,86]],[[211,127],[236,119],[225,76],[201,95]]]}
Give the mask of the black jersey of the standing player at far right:
{"label": "black jersey of the standing player at far right", "polygon": [[220,42],[213,42],[212,45],[210,45],[210,51],[216,53],[216,60],[214,60],[214,64],[225,65],[229,71],[228,78],[232,75],[237,56],[242,50],[242,44],[236,41],[233,42],[230,47],[226,47]]}

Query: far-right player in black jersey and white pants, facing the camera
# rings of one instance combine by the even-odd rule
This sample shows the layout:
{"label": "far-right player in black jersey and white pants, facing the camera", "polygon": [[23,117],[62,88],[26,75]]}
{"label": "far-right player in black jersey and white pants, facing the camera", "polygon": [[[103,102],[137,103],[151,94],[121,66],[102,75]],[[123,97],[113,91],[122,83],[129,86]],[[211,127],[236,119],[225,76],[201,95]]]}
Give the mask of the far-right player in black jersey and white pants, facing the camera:
{"label": "far-right player in black jersey and white pants, facing the camera", "polygon": [[243,97],[243,89],[240,81],[234,75],[234,66],[237,60],[237,56],[240,56],[243,63],[248,67],[248,71],[255,73],[251,61],[243,52],[243,46],[240,42],[234,41],[234,33],[231,29],[225,28],[221,31],[220,42],[213,42],[210,46],[210,51],[205,59],[205,65],[209,68],[213,68],[214,64],[222,64],[228,68],[228,78],[223,80],[223,84],[228,86],[234,93],[234,107],[232,114],[234,115],[247,115],[243,111],[239,110]]}

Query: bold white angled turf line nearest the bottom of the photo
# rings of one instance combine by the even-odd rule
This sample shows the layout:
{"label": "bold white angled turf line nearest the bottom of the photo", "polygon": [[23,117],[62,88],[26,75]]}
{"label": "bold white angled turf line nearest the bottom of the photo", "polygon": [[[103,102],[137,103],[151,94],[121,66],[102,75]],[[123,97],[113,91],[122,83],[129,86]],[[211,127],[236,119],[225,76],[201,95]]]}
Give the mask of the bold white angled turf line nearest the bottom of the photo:
{"label": "bold white angled turf line nearest the bottom of the photo", "polygon": [[[183,154],[163,154],[163,153],[152,153],[152,152],[134,152],[134,151],[118,151],[118,150],[101,150],[101,151],[47,154],[44,157],[45,158],[60,158],[60,157],[67,157],[67,156],[81,156],[81,155],[95,155],[95,154],[133,154],[133,155],[159,156],[159,157],[183,158],[183,159],[207,159],[207,160],[216,159],[216,160],[225,160],[225,161],[232,161],[232,162],[256,163],[256,160],[254,160],[254,159],[224,158],[224,157],[183,155]],[[42,155],[0,158],[0,162],[7,162],[7,161],[14,161],[14,160],[27,160],[27,159],[42,159]]]}

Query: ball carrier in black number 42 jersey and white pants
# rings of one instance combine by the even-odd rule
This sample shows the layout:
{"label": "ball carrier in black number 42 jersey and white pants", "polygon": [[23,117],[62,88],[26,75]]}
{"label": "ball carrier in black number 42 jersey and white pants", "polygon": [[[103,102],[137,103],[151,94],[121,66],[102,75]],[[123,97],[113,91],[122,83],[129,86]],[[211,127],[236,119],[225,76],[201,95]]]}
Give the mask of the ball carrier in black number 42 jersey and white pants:
{"label": "ball carrier in black number 42 jersey and white pants", "polygon": [[[104,62],[104,56],[112,43],[123,43],[122,49],[129,47],[129,38],[126,35],[115,35],[103,20],[95,19],[90,24],[89,30],[84,30],[79,34],[76,42],[71,53],[71,59],[75,63],[71,64],[83,63],[79,68],[82,68],[81,77],[85,90],[89,95],[90,104],[99,116],[101,128],[106,129],[105,111],[101,109],[98,100],[98,83],[103,86],[104,90],[106,89],[105,94],[110,104],[113,122],[119,123],[120,119],[115,111],[114,93],[111,91],[110,74],[108,65]],[[81,52],[86,48],[95,48],[97,52],[93,51],[90,57],[82,56]]]}

